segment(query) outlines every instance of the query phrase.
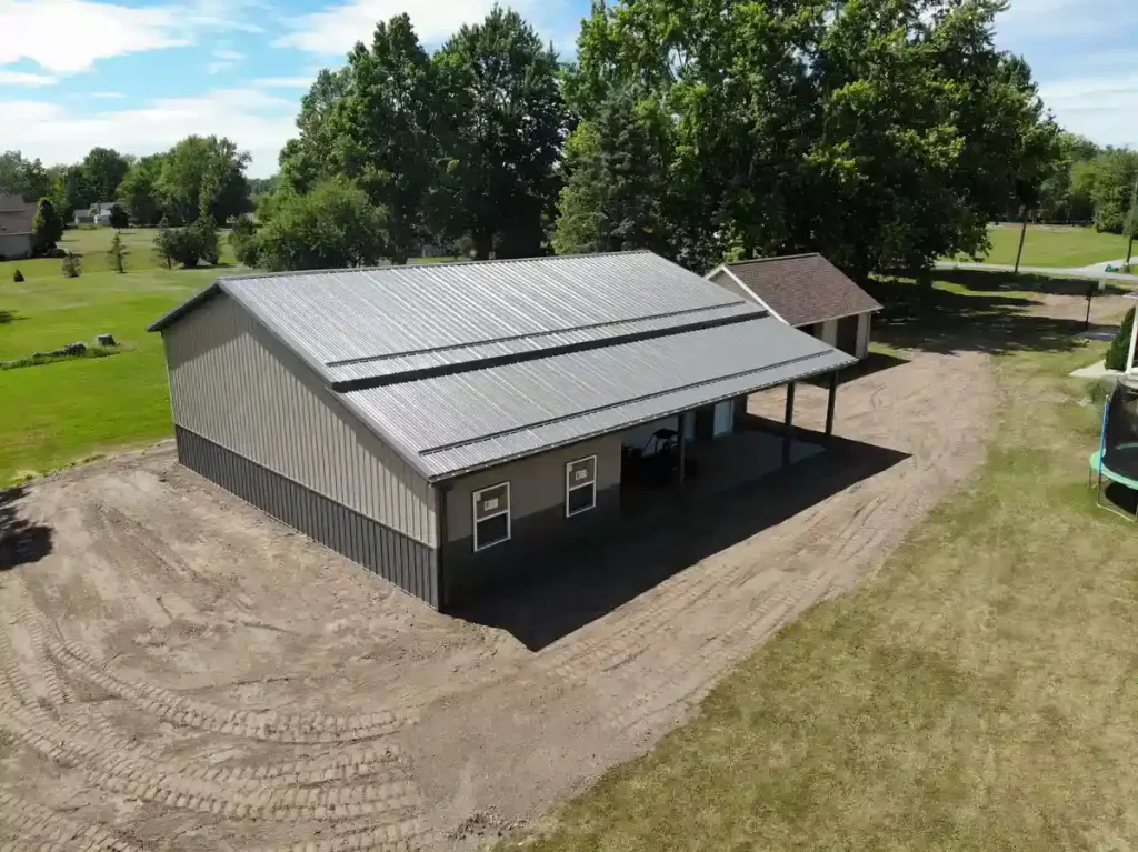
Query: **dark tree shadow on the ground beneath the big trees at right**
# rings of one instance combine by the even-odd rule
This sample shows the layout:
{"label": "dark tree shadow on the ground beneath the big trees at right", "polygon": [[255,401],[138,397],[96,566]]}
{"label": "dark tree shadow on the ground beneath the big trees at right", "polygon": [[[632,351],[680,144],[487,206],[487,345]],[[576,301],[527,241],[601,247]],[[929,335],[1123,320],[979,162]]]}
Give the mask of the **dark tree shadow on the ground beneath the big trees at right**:
{"label": "dark tree shadow on the ground beneath the big trees at right", "polygon": [[[991,273],[981,274],[998,278]],[[1032,308],[1041,301],[1004,296],[998,292],[1000,289],[1005,289],[1004,286],[992,281],[990,289],[974,295],[933,289],[918,299],[910,283],[877,281],[874,295],[884,307],[874,319],[873,337],[898,348],[942,355],[960,351],[989,355],[1069,353],[1086,346],[1082,336],[1088,330],[1106,332],[1115,328],[1091,323],[1088,329],[1082,320],[1033,314]]]}

